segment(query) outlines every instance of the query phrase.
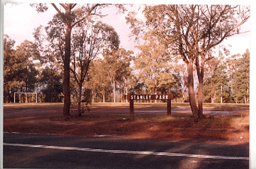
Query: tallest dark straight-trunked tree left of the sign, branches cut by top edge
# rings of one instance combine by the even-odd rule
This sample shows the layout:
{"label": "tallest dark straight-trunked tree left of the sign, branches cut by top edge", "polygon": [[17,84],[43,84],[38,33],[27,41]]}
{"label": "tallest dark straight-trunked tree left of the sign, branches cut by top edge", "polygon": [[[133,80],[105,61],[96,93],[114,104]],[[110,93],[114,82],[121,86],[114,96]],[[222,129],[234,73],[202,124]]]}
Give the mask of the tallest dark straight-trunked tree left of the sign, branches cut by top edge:
{"label": "tallest dark straight-trunked tree left of the sign, branches cut by top edge", "polygon": [[[112,6],[111,4],[51,4],[57,11],[61,18],[61,23],[63,24],[64,31],[64,57],[63,57],[63,88],[64,88],[64,107],[63,115],[68,117],[70,115],[70,58],[71,58],[71,32],[72,29],[85,19],[91,16],[104,16],[101,14],[101,9]],[[45,12],[48,10],[47,4],[31,4],[31,6],[36,7],[37,12]],[[114,4],[120,11],[124,11],[125,7],[122,4]]]}

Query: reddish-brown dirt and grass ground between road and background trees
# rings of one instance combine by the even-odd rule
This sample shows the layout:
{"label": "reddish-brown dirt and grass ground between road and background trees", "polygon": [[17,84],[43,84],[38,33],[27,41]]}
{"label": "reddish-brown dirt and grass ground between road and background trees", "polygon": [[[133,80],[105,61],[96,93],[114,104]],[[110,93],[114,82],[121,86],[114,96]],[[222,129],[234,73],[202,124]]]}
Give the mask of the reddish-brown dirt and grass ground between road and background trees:
{"label": "reddish-brown dirt and grass ground between road and background trees", "polygon": [[172,104],[172,117],[163,103],[134,109],[131,117],[129,103],[93,104],[78,117],[72,107],[65,121],[60,103],[4,104],[4,133],[249,144],[249,105],[204,105],[206,118],[199,120],[188,104]]}

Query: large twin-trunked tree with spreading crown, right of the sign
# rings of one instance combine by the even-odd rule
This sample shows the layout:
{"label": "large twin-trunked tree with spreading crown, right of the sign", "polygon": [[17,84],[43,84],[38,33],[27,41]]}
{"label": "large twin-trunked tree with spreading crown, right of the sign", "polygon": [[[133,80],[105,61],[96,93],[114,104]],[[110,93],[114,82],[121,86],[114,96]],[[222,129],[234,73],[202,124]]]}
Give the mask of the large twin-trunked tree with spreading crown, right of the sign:
{"label": "large twin-trunked tree with spreading crown, right of the sign", "polygon": [[[145,5],[145,21],[134,12],[127,16],[133,34],[151,31],[187,66],[189,103],[194,117],[204,117],[202,108],[204,64],[211,49],[227,37],[240,33],[250,17],[250,6],[235,5]],[[146,29],[145,29],[146,28]],[[170,56],[171,57],[171,56]],[[193,65],[198,77],[198,106],[194,91]]]}

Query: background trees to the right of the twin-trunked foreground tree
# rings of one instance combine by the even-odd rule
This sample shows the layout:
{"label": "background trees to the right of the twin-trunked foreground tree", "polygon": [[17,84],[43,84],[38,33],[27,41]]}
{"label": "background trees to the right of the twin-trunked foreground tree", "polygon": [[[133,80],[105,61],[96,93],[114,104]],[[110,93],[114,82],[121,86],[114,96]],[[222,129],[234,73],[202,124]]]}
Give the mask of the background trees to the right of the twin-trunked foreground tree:
{"label": "background trees to the right of the twin-trunked foreground tree", "polygon": [[249,103],[249,50],[242,56],[214,58],[207,63],[209,69],[204,82],[204,102],[221,103],[222,97],[223,103]]}

